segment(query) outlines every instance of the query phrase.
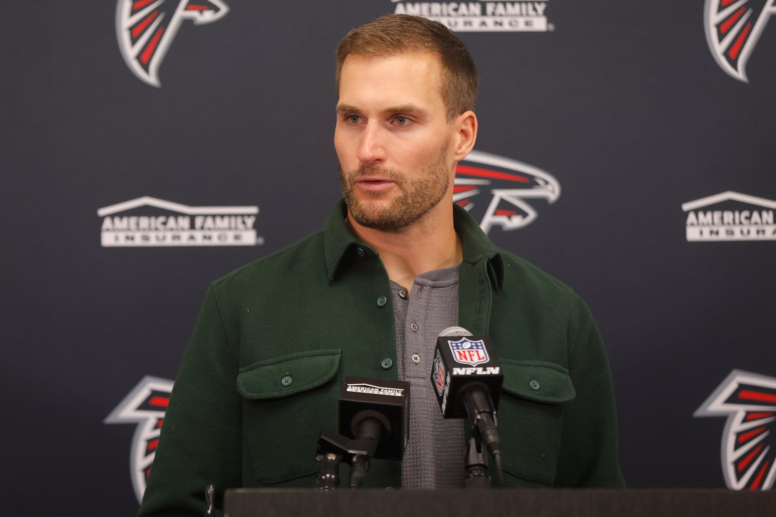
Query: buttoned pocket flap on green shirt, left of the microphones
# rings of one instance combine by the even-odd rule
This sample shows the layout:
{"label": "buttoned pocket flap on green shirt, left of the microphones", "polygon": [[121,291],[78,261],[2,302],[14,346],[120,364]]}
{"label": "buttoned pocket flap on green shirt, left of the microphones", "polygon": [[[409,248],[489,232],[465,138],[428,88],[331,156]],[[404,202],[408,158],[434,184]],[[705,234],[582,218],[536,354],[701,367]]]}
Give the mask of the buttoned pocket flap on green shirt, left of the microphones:
{"label": "buttoned pocket flap on green shirt, left of the microphones", "polygon": [[337,374],[341,357],[341,350],[309,350],[258,361],[240,368],[237,391],[250,400],[268,400],[317,388]]}

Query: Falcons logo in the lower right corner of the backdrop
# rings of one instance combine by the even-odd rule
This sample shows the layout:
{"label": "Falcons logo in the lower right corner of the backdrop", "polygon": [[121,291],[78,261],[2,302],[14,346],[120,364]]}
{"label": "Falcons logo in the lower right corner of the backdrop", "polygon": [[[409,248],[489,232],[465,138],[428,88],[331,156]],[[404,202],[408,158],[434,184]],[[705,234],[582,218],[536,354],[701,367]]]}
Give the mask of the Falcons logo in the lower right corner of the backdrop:
{"label": "Falcons logo in the lower right corner of the backdrop", "polygon": [[768,490],[776,468],[776,378],[733,370],[693,416],[724,416],[722,474],[733,490]]}

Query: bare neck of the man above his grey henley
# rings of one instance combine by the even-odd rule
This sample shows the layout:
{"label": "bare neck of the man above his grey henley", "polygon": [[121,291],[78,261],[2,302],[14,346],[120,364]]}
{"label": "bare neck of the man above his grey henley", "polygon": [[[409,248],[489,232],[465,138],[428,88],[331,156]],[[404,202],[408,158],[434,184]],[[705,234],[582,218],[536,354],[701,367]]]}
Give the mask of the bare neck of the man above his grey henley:
{"label": "bare neck of the man above his grey henley", "polygon": [[417,275],[455,266],[463,259],[461,240],[452,223],[452,205],[432,210],[411,226],[393,231],[361,226],[349,213],[348,223],[360,240],[379,253],[388,277],[408,290]]}

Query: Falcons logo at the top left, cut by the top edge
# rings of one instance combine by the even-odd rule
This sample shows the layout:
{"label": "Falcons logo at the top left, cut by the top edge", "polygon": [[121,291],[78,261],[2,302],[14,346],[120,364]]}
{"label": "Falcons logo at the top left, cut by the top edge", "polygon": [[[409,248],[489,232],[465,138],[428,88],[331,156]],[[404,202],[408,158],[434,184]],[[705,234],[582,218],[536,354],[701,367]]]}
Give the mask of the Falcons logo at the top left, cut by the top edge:
{"label": "Falcons logo at the top left, cut by the top edge", "polygon": [[138,78],[160,87],[159,66],[184,19],[196,25],[223,18],[221,0],[119,0],[116,37],[124,61]]}

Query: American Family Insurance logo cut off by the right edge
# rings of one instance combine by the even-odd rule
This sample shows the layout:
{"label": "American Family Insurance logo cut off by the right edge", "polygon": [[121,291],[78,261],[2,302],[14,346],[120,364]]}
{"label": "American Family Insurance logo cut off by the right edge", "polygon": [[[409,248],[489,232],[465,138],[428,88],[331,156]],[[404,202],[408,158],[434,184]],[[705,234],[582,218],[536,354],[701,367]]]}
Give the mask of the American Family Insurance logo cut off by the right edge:
{"label": "American Family Insurance logo cut off by the right edge", "polygon": [[776,240],[776,201],[727,191],[681,205],[689,242]]}

